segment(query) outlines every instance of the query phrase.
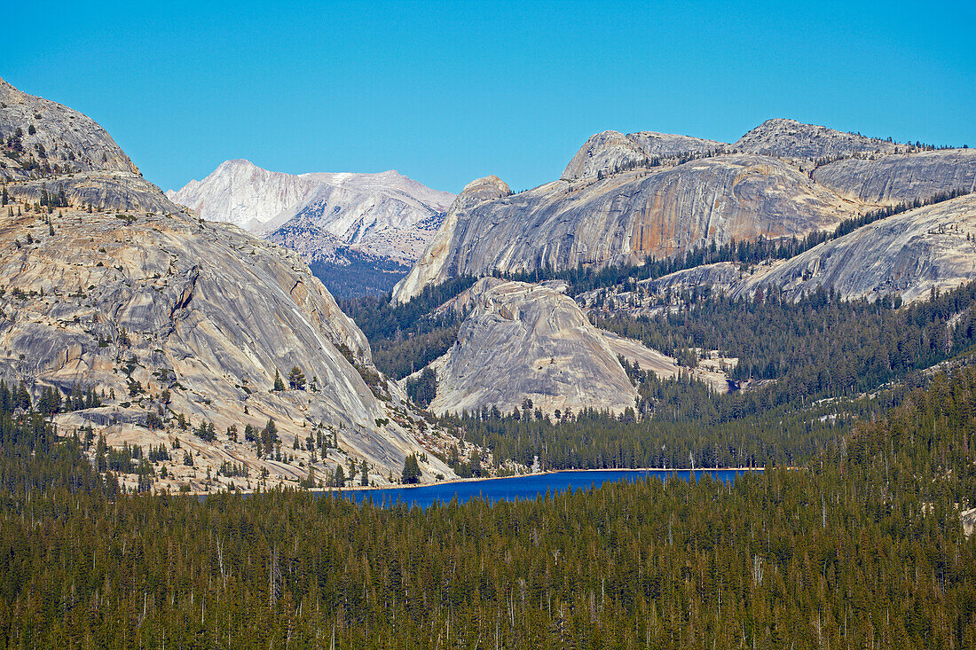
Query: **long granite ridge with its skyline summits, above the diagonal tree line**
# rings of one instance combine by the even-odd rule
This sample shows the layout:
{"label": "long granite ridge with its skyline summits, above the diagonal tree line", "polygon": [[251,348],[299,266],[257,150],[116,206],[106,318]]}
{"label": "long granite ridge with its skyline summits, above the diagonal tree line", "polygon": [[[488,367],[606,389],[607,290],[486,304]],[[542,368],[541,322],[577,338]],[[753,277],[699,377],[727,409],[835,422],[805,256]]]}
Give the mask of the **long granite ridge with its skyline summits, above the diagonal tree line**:
{"label": "long granite ridge with its skyline summits, above the diagonal tree line", "polygon": [[469,187],[504,190],[475,198],[466,188],[394,302],[462,275],[641,264],[733,239],[829,231],[881,206],[973,191],[976,155],[774,119],[731,145],[607,131],[560,181],[511,195],[490,179]]}

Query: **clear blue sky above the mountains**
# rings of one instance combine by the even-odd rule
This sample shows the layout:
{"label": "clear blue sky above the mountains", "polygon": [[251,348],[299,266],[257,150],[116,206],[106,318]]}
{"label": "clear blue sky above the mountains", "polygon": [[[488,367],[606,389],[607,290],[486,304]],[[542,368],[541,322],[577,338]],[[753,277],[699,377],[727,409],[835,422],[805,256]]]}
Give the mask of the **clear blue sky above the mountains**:
{"label": "clear blue sky above the mountains", "polygon": [[605,129],[976,146],[974,4],[10,2],[0,76],[164,189],[248,158],[518,190]]}

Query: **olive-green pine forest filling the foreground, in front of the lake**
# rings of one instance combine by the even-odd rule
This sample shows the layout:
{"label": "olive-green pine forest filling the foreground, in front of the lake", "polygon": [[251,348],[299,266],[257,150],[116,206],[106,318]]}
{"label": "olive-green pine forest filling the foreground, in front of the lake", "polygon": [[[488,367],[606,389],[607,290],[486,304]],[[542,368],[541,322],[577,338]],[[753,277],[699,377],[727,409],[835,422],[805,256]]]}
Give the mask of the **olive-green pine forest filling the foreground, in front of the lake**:
{"label": "olive-green pine forest filling the foreground, in front of the lake", "polygon": [[[0,413],[7,647],[967,648],[976,370],[804,467],[487,506],[119,495]],[[14,413],[17,415],[14,415]],[[793,427],[793,425],[791,425]],[[334,645],[333,645],[334,644]]]}

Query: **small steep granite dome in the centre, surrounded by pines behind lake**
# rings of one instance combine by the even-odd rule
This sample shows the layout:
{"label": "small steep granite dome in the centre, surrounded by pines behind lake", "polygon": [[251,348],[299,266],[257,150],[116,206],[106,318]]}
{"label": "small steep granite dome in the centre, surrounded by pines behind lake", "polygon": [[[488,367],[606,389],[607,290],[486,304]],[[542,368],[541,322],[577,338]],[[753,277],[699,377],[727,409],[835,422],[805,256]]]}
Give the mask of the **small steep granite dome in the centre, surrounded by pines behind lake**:
{"label": "small steep granite dome in the centre, surrounded by pines behind lake", "polygon": [[616,353],[582,309],[553,286],[482,278],[458,298],[468,311],[458,342],[432,365],[435,413],[494,405],[504,412],[525,398],[555,409],[635,404],[636,391]]}

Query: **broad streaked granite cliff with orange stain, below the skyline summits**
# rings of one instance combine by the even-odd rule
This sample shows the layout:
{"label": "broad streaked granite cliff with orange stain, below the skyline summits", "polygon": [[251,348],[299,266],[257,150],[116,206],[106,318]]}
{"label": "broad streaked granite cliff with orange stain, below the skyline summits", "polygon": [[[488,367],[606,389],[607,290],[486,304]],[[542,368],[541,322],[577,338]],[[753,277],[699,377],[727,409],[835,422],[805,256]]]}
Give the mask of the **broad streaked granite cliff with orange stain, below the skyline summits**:
{"label": "broad streaked granite cliff with orange stain, below the skyline summits", "polygon": [[634,264],[712,242],[801,236],[860,207],[778,159],[753,155],[499,194],[471,203],[459,197],[395,301],[460,275]]}

